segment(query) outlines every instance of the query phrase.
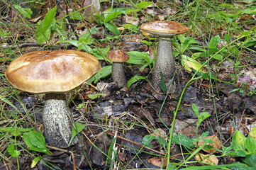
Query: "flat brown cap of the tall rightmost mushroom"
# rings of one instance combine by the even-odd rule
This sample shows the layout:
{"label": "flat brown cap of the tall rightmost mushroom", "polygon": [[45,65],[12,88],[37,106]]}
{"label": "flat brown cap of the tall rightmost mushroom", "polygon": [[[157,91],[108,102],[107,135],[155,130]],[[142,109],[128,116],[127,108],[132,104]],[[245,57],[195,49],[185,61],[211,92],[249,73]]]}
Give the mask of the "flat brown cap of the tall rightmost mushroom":
{"label": "flat brown cap of the tall rightmost mushroom", "polygon": [[172,37],[189,31],[187,26],[173,21],[152,21],[150,23],[143,23],[140,29],[160,37]]}

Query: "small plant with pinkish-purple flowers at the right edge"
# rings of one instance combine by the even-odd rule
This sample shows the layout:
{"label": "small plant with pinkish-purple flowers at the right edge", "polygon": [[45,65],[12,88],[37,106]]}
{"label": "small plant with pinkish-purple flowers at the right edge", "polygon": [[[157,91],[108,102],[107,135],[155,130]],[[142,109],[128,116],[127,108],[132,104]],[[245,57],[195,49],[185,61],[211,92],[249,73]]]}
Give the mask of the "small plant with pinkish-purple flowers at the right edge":
{"label": "small plant with pinkish-purple flowers at the right edge", "polygon": [[229,93],[239,91],[240,93],[245,92],[247,95],[250,96],[256,93],[256,80],[251,79],[250,74],[245,73],[245,76],[238,77],[237,86],[237,89],[233,89]]}

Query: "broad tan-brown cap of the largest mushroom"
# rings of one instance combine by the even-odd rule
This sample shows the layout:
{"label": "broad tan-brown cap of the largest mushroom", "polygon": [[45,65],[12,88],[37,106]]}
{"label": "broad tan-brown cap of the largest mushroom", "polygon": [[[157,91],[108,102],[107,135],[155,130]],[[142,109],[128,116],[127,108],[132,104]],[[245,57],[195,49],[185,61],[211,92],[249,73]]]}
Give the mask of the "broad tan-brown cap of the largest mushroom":
{"label": "broad tan-brown cap of the largest mushroom", "polygon": [[70,91],[101,70],[96,57],[74,50],[37,51],[16,58],[6,79],[30,93]]}

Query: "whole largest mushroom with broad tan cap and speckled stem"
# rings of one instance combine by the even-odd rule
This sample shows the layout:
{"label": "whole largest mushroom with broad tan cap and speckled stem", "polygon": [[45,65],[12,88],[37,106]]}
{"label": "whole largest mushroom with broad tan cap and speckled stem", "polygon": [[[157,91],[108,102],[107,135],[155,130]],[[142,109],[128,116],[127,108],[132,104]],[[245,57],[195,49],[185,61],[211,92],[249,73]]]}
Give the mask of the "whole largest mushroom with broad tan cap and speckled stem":
{"label": "whole largest mushroom with broad tan cap and speckled stem", "polygon": [[38,51],[13,60],[5,76],[16,89],[45,94],[45,139],[55,147],[67,147],[72,136],[72,115],[65,92],[76,88],[99,70],[99,61],[86,52]]}

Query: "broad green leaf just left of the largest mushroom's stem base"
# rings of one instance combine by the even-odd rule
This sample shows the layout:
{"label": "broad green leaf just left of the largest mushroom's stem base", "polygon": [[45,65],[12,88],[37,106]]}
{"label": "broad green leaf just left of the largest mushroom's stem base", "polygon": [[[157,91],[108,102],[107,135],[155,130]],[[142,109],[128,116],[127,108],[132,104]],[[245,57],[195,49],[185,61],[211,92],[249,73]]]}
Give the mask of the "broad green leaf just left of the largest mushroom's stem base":
{"label": "broad green leaf just left of the largest mushroom's stem base", "polygon": [[45,154],[51,154],[45,144],[45,137],[41,132],[30,131],[23,134],[23,140],[29,149],[44,152]]}

